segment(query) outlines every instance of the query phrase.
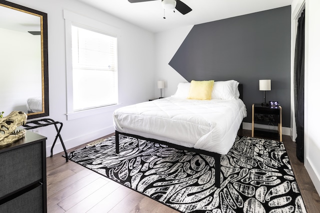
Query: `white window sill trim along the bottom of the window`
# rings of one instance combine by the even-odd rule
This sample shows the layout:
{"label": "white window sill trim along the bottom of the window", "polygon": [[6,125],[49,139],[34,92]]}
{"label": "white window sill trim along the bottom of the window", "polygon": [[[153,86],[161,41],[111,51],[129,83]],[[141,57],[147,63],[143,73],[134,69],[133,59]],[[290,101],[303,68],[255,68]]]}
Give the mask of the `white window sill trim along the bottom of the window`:
{"label": "white window sill trim along the bottom of the window", "polygon": [[78,112],[70,112],[66,114],[66,120],[74,120],[74,119],[84,118],[84,117],[93,116],[101,113],[113,112],[117,108],[121,107],[121,105],[122,104],[115,104],[111,106],[87,109],[87,110],[78,111]]}

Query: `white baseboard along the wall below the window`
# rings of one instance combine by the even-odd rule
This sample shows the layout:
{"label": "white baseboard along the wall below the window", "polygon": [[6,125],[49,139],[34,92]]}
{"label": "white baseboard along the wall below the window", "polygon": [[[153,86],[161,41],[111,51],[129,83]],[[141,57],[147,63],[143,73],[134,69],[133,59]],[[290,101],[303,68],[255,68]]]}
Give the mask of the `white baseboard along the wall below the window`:
{"label": "white baseboard along the wall below the window", "polygon": [[[80,136],[77,136],[76,138],[72,138],[69,140],[63,140],[63,144],[64,144],[66,150],[68,150],[73,147],[88,143],[89,141],[93,141],[97,138],[103,137],[103,136],[111,134],[111,133],[114,133],[113,126],[110,126],[110,127],[104,128],[104,129],[100,129],[95,132],[91,132],[90,134],[80,135]],[[51,145],[46,147],[46,157],[50,156],[50,150],[51,150]],[[60,153],[60,152],[63,152],[63,148],[62,148],[60,140],[57,139],[57,141],[54,145],[54,148],[53,148],[53,155]]]}

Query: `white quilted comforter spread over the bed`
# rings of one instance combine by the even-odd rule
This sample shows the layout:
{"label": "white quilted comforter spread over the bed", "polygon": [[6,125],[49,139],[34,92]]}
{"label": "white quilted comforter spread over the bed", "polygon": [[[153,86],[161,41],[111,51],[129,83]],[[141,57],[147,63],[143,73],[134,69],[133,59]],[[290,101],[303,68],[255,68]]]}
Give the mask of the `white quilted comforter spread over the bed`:
{"label": "white quilted comforter spread over the bed", "polygon": [[173,97],[119,108],[115,130],[169,143],[227,154],[246,108],[242,100],[190,100]]}

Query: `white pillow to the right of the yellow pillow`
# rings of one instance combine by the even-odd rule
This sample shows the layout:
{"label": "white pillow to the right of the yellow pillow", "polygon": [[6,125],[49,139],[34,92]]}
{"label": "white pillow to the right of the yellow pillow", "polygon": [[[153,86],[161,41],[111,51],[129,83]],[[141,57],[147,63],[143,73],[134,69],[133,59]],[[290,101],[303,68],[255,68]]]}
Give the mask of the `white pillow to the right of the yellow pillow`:
{"label": "white pillow to the right of the yellow pillow", "polygon": [[235,80],[215,81],[211,99],[235,100],[239,97],[238,82]]}

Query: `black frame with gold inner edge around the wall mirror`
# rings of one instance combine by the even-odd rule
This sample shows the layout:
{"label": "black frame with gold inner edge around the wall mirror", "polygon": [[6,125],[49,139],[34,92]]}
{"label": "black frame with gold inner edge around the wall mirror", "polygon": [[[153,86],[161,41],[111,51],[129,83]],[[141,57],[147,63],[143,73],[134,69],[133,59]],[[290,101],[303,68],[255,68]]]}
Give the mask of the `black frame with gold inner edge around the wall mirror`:
{"label": "black frame with gold inner edge around the wall mirror", "polygon": [[[48,42],[47,42],[47,14],[35,9],[31,9],[19,4],[15,4],[6,0],[0,0],[0,7],[4,6],[6,8],[12,9],[12,10],[16,10],[19,12],[24,12],[24,13],[28,13],[30,15],[35,15],[37,17],[40,18],[40,33],[38,33],[38,35],[41,36],[41,99],[39,101],[39,103],[42,102],[42,108],[39,111],[36,112],[32,112],[32,111],[27,111],[27,119],[33,119],[33,118],[39,118],[39,117],[44,117],[44,116],[48,116],[49,115],[49,92],[48,92]],[[15,11],[15,12],[16,12]],[[2,21],[6,21],[8,20],[8,18],[3,19]],[[21,20],[21,25],[23,25],[23,20]],[[29,32],[31,33],[31,32]],[[32,33],[31,33],[32,34]],[[0,50],[1,51],[1,50]],[[14,60],[16,60],[16,58],[14,58]],[[19,63],[19,61],[16,61],[16,63]],[[0,70],[1,70],[1,64],[0,64]],[[0,72],[4,72],[4,70],[1,70]],[[19,76],[17,76],[18,78]],[[38,76],[38,78],[40,78],[40,76]],[[2,79],[5,80],[5,79]],[[28,86],[27,86],[28,82],[25,82],[24,85],[21,85],[20,88],[18,88],[19,90],[27,90]],[[31,82],[29,82],[31,83]],[[18,82],[10,82],[10,89],[14,88],[14,87],[18,87],[20,84]],[[0,89],[1,92],[5,92],[7,91],[7,88],[1,88],[0,85]],[[18,91],[16,93],[18,93]],[[39,89],[40,90],[40,89]],[[38,91],[38,93],[40,94],[40,92]],[[11,96],[10,96],[11,97]],[[12,97],[12,100],[10,99],[9,101],[5,101],[8,102],[9,105],[13,105],[15,104],[15,99],[16,97]],[[25,103],[26,104],[26,103]],[[9,106],[11,107],[11,106]],[[11,107],[13,108],[13,107]],[[27,108],[27,107],[25,107]],[[40,108],[40,107],[39,107]],[[0,109],[0,111],[2,111],[3,109]],[[15,110],[13,108],[13,110]],[[12,110],[12,111],[13,111]],[[24,110],[22,110],[24,111]],[[5,113],[10,113],[10,112],[5,112]]]}

